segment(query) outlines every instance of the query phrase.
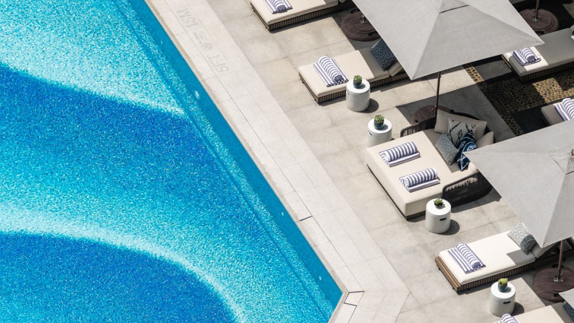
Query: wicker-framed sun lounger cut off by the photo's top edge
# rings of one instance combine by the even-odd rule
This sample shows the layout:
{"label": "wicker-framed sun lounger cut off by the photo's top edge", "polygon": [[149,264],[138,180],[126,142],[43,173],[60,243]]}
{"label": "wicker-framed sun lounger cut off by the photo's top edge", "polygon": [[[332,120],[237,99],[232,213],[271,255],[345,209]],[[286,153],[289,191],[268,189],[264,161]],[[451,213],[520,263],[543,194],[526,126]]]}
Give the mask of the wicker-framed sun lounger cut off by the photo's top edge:
{"label": "wicker-framed sun lounger cut off by the photo's top edge", "polygon": [[265,1],[250,1],[251,8],[268,30],[281,28],[354,6],[351,0],[343,3],[339,2],[339,0],[289,0],[289,2],[293,9],[284,13],[273,14],[265,5]]}

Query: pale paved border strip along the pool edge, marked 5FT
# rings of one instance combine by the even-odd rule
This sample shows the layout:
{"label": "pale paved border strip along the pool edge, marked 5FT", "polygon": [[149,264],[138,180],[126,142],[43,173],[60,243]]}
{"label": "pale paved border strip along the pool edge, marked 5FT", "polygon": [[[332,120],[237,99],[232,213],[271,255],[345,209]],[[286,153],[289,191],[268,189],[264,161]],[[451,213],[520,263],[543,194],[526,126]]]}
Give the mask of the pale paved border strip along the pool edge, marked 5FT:
{"label": "pale paved border strip along the pool edge, marked 5FT", "polygon": [[[374,316],[394,321],[409,290],[364,227],[364,235],[342,237],[334,244],[329,240],[332,228],[324,225],[325,214],[345,207],[342,194],[210,5],[197,0],[146,2],[343,291],[329,321]],[[352,209],[347,211],[356,219]],[[367,249],[370,257],[354,262],[350,254],[358,252],[355,246]],[[367,308],[360,302],[363,295],[385,306]]]}

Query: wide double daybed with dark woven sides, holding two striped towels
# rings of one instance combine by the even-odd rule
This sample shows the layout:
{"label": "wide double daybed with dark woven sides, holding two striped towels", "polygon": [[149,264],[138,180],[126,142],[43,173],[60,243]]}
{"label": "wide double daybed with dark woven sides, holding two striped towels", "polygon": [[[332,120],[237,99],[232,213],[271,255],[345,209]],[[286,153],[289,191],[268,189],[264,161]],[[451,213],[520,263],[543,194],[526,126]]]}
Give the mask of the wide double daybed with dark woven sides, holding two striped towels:
{"label": "wide double daybed with dark woven sides, holding two striped towels", "polygon": [[[367,167],[407,220],[423,215],[429,200],[442,198],[454,207],[480,199],[492,189],[490,183],[478,172],[472,162],[461,172],[456,163],[448,165],[437,151],[435,143],[445,131],[441,128],[448,127],[448,118],[468,123],[476,122],[476,118],[467,114],[449,114],[439,110],[437,116],[403,129],[401,138],[369,147],[366,150]],[[477,147],[494,143],[494,134],[486,127],[486,122],[483,124],[485,125],[484,135],[476,138]],[[387,166],[379,152],[409,141],[417,146],[420,158],[394,167]],[[436,169],[440,178],[439,185],[408,192],[399,180],[401,176],[429,167]]]}

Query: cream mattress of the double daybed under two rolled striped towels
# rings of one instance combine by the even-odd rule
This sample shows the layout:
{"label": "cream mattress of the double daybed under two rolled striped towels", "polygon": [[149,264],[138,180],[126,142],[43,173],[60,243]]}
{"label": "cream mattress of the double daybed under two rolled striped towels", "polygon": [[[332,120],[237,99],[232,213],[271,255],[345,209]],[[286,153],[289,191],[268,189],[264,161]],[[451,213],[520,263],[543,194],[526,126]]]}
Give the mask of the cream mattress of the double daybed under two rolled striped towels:
{"label": "cream mattress of the double daybed under two rolled striped towels", "polygon": [[[435,148],[435,142],[439,137],[440,134],[435,133],[433,129],[428,129],[366,149],[365,159],[367,165],[405,216],[425,211],[426,202],[430,199],[440,198],[445,185],[478,172],[472,163],[463,172],[460,171],[456,164],[447,165]],[[392,168],[385,165],[385,162],[379,155],[379,151],[409,141],[413,141],[417,145],[421,157]],[[398,180],[401,176],[429,167],[436,169],[439,174],[440,184],[409,193],[405,186],[401,184],[401,181]]]}

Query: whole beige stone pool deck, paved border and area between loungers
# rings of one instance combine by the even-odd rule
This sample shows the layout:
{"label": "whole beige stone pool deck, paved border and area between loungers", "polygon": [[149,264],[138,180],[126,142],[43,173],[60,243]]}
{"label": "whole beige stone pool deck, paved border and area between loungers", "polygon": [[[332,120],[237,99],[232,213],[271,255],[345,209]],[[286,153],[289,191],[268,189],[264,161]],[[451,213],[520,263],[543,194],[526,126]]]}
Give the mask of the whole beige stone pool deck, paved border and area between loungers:
{"label": "whole beige stone pool deck, paved border and area between loungers", "polygon": [[[433,77],[383,85],[368,112],[344,99],[317,104],[296,68],[372,42],[345,37],[344,14],[268,32],[249,1],[146,0],[272,184],[293,220],[342,287],[333,322],[494,322],[488,287],[457,294],[437,269],[439,251],[511,229],[517,217],[493,190],[453,209],[446,235],[406,221],[363,162],[366,124],[393,122],[393,137],[433,102]],[[514,137],[463,68],[443,74],[441,104],[488,121],[497,140]],[[511,277],[517,310],[544,306],[534,271]],[[345,293],[348,292],[348,293]]]}

